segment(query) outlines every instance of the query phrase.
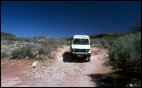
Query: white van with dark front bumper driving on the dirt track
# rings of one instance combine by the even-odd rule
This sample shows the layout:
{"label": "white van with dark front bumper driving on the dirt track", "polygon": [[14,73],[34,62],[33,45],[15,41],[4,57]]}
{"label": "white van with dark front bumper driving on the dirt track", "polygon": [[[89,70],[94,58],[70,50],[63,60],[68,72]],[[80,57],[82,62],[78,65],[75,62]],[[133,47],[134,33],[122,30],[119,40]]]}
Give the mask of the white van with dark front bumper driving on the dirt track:
{"label": "white van with dark front bumper driving on the dirt track", "polygon": [[88,35],[74,35],[69,52],[77,57],[85,57],[90,61],[91,45]]}

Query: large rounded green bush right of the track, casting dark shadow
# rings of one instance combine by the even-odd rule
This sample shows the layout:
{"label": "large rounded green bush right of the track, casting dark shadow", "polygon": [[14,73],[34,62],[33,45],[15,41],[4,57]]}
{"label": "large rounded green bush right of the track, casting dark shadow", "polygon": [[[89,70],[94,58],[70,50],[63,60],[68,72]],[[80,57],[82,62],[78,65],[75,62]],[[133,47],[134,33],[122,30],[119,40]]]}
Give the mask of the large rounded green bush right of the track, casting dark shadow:
{"label": "large rounded green bush right of the track, casting dark shadow", "polygon": [[109,48],[113,69],[141,77],[141,33],[129,33],[116,39]]}

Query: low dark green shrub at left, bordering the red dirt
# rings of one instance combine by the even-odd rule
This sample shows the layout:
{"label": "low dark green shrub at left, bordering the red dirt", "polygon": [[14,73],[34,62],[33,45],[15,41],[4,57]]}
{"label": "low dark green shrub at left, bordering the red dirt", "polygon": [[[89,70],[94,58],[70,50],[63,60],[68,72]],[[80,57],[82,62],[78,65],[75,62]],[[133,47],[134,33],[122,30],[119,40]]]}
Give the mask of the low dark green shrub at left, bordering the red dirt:
{"label": "low dark green shrub at left, bordering the red dirt", "polygon": [[18,48],[12,52],[13,58],[33,57],[31,47]]}

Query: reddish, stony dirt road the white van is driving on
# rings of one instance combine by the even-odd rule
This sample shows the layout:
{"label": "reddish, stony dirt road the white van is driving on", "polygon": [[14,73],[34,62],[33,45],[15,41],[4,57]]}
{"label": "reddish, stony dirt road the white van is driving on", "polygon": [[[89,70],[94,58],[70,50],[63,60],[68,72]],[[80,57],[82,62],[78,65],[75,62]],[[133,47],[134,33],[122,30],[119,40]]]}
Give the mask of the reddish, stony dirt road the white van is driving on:
{"label": "reddish, stony dirt road the white van is driving on", "polygon": [[[39,61],[37,68],[32,69],[35,60],[2,59],[1,61],[1,86],[26,86],[26,87],[95,87],[90,74],[105,74],[110,72],[110,67],[104,65],[107,61],[107,50],[92,48],[90,62],[75,60],[71,62],[64,57],[68,46],[60,48],[55,60]],[[77,58],[76,58],[77,59]]]}

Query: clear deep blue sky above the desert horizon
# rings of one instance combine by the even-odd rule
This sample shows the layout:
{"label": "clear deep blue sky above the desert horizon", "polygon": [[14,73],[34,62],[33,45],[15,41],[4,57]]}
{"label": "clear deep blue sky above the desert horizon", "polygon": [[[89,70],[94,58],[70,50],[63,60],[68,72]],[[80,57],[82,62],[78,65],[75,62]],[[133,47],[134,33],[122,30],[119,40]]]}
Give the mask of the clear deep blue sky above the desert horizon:
{"label": "clear deep blue sky above the desert horizon", "polygon": [[2,1],[1,31],[17,37],[126,32],[140,1]]}

